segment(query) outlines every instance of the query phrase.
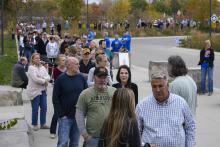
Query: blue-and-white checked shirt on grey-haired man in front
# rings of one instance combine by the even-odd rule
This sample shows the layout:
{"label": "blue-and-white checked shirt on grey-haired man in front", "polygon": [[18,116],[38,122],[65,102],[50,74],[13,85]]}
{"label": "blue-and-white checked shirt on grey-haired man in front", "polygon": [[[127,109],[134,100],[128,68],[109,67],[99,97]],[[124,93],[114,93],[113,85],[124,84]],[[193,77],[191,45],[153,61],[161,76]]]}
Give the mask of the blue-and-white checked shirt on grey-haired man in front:
{"label": "blue-and-white checked shirt on grey-haired man in front", "polygon": [[142,142],[157,147],[194,147],[195,121],[186,101],[170,94],[164,103],[149,96],[136,107]]}

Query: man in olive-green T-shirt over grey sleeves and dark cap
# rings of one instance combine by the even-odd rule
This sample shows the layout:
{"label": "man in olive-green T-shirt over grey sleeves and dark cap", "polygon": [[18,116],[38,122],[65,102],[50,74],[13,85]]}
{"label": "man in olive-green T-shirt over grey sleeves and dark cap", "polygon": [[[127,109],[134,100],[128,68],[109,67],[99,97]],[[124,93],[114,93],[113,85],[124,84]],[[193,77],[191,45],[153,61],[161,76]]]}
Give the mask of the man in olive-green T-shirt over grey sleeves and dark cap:
{"label": "man in olive-green T-shirt over grey sleeves and dark cap", "polygon": [[95,68],[94,86],[80,94],[76,105],[76,121],[84,138],[85,147],[98,146],[103,122],[109,114],[116,89],[107,86],[107,77],[108,71],[105,67]]}

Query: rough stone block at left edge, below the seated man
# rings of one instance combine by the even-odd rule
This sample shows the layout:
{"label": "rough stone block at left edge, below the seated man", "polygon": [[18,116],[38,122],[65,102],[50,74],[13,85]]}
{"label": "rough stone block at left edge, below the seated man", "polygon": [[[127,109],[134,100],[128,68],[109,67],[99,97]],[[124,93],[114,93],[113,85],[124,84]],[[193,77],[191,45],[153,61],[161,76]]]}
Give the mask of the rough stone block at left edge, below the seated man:
{"label": "rough stone block at left edge, below the seated man", "polygon": [[0,85],[0,106],[22,105],[22,89]]}

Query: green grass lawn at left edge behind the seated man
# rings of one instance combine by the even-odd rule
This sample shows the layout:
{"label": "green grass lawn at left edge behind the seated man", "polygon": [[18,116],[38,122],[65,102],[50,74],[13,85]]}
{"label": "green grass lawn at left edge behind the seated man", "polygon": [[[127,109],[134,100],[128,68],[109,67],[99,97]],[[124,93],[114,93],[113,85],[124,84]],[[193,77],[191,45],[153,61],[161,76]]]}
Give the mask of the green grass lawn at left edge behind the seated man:
{"label": "green grass lawn at left edge behind the seated man", "polygon": [[10,85],[11,71],[18,60],[17,49],[16,42],[10,35],[4,37],[4,55],[0,56],[0,85]]}

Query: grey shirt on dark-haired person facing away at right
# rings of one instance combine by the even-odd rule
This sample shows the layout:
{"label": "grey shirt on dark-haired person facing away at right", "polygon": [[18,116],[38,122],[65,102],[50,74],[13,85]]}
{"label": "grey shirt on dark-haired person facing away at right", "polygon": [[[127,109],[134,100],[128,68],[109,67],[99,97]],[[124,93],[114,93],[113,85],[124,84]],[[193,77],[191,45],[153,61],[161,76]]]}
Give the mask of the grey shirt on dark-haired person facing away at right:
{"label": "grey shirt on dark-haired person facing away at right", "polygon": [[183,97],[191,108],[193,114],[196,114],[197,106],[197,86],[194,80],[188,76],[178,76],[170,84],[170,92]]}

